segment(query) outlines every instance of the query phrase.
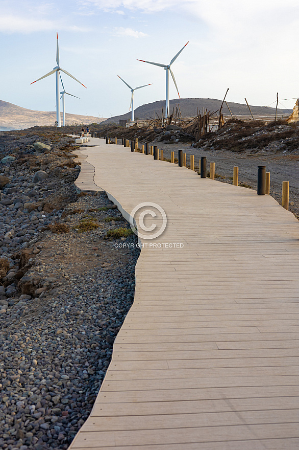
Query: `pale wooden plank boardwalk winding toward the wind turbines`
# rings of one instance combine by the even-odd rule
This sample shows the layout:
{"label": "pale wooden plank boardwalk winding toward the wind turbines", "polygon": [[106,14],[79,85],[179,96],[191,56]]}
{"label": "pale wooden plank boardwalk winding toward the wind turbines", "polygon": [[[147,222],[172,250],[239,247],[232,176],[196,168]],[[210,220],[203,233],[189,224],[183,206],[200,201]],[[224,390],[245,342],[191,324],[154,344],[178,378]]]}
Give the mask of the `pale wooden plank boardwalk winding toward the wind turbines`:
{"label": "pale wooden plank boardwalk winding toward the wind turbines", "polygon": [[270,196],[122,146],[86,152],[126,217],[156,202],[168,223],[154,242],[184,248],[142,250],[134,304],[69,448],[297,450],[299,222]]}

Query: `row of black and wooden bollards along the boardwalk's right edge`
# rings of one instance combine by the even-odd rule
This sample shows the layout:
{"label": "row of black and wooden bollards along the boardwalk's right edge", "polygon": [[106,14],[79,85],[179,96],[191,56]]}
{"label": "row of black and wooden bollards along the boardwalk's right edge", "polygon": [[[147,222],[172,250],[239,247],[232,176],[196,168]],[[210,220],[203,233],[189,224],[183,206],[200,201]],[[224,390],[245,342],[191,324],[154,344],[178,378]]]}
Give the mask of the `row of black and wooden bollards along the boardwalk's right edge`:
{"label": "row of black and wooden bollards along the boardwalk's right edge", "polygon": [[[96,134],[96,133],[95,133]],[[96,136],[95,136],[96,137]],[[106,144],[110,144],[110,136],[106,136]],[[115,144],[117,144],[117,138],[115,137]],[[131,147],[131,152],[138,151],[138,139],[129,141],[128,139],[121,138],[121,144],[124,147]],[[142,145],[141,153],[146,155],[153,155],[154,160],[159,160],[159,148],[155,146],[150,146],[147,142]],[[183,150],[178,151],[179,167],[187,167],[186,153]],[[160,161],[164,161],[163,150],[160,150]],[[170,162],[175,163],[175,152],[171,151]],[[190,169],[194,171],[194,155],[190,155]],[[201,178],[207,178],[207,156],[201,156],[200,160],[200,175]],[[210,163],[210,179],[215,179],[215,163]],[[239,185],[239,168],[234,166],[233,169],[233,185]],[[258,166],[258,195],[269,195],[270,194],[270,172],[266,172],[266,166]],[[282,182],[282,206],[286,210],[289,209],[289,182]]]}

